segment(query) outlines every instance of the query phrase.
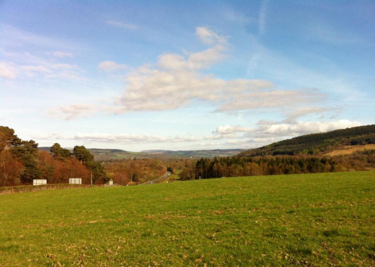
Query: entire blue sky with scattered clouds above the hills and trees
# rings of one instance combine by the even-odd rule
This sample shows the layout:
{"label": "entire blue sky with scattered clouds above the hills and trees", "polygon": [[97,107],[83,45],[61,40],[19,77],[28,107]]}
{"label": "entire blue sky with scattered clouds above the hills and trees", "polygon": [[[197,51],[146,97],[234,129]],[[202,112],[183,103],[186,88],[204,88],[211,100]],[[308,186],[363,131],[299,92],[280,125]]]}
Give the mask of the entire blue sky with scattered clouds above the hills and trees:
{"label": "entire blue sky with scattered clouds above the hills and trees", "polygon": [[374,124],[374,1],[0,1],[0,125],[39,146],[256,148]]}

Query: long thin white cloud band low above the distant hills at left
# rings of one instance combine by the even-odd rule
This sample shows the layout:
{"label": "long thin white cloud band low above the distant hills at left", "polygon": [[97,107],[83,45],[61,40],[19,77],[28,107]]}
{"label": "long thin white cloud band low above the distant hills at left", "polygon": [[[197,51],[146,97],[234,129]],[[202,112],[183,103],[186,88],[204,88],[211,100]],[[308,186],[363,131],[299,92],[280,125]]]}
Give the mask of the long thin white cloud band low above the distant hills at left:
{"label": "long thin white cloud band low above the distant hills at left", "polygon": [[36,140],[80,140],[96,143],[179,143],[197,141],[193,136],[151,136],[144,134],[107,134],[107,133],[78,133],[74,136],[62,136],[57,133],[33,136]]}

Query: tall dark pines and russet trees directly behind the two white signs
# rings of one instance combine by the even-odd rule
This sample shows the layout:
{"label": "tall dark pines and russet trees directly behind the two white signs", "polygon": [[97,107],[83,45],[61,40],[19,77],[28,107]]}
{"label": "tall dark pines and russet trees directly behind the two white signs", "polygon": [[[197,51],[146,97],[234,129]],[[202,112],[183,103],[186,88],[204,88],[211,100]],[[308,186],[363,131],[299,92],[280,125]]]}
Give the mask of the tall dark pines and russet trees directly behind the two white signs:
{"label": "tall dark pines and russet trees directly behind the two white signs", "polygon": [[83,183],[106,179],[104,167],[94,161],[84,146],[71,153],[55,143],[50,152],[39,151],[34,140],[21,140],[12,128],[0,126],[0,186],[28,185],[33,179],[48,183],[68,183],[82,178]]}

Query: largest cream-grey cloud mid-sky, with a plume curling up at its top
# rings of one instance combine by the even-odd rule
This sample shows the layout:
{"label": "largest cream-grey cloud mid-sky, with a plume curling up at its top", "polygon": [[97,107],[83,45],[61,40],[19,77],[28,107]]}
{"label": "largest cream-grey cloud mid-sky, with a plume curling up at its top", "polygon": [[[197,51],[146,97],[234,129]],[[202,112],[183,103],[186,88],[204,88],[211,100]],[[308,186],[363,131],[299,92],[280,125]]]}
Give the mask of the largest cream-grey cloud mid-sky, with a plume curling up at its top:
{"label": "largest cream-grey cloud mid-sky, with a plume curling up at its top", "polygon": [[[324,97],[317,89],[279,89],[271,81],[224,80],[207,74],[213,64],[228,56],[228,38],[206,27],[197,27],[196,35],[211,47],[199,52],[163,54],[155,65],[130,70],[125,75],[123,95],[112,105],[102,106],[102,111],[120,114],[178,109],[199,101],[216,107],[215,112],[231,114],[239,110],[289,109],[317,103]],[[98,67],[108,72],[126,68],[113,61],[103,61]]]}

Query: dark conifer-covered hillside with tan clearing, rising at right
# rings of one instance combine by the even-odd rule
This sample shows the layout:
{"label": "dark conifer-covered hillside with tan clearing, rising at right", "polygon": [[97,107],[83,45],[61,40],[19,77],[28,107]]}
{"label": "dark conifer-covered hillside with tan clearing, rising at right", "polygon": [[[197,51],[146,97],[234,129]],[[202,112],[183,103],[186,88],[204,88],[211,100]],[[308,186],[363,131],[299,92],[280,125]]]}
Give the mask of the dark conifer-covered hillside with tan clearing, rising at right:
{"label": "dark conifer-covered hillside with tan clearing, rising at right", "polygon": [[241,152],[239,157],[296,154],[323,155],[345,145],[367,144],[375,144],[375,124],[326,133],[306,134]]}

